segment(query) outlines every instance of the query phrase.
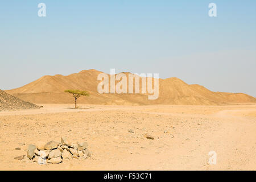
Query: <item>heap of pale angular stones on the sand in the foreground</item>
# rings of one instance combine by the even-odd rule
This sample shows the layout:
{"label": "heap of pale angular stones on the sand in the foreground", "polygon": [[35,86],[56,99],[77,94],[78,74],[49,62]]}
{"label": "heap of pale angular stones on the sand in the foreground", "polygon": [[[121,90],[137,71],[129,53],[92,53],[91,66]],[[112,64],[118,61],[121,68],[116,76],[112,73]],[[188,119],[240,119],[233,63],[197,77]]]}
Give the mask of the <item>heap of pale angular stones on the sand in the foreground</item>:
{"label": "heap of pale angular stones on the sand in the foreground", "polygon": [[87,142],[71,143],[65,137],[60,138],[60,143],[51,141],[46,144],[39,143],[36,146],[28,145],[27,155],[17,156],[14,159],[26,163],[59,164],[65,160],[86,159],[90,156]]}

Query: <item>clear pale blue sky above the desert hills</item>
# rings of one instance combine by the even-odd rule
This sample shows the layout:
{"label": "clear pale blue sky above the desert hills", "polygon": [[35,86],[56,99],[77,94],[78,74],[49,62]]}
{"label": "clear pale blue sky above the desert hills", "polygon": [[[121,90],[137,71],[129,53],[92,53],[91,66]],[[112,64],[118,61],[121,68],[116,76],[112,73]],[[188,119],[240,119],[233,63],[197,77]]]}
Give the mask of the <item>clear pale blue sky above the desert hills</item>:
{"label": "clear pale blue sky above the desert hills", "polygon": [[255,0],[1,1],[0,35],[0,89],[115,68],[256,97]]}

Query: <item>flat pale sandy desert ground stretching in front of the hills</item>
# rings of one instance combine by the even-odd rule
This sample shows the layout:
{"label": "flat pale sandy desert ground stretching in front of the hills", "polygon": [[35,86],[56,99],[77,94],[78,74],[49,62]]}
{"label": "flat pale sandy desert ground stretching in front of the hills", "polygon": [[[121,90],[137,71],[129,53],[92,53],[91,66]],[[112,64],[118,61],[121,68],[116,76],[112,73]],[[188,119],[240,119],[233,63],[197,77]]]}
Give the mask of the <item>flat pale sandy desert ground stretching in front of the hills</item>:
{"label": "flat pale sandy desert ground stretching in front of the hills", "polygon": [[[256,169],[256,105],[43,106],[0,112],[1,170]],[[61,136],[86,140],[92,156],[47,165],[14,159],[27,144]],[[216,165],[208,164],[209,151],[216,152]]]}

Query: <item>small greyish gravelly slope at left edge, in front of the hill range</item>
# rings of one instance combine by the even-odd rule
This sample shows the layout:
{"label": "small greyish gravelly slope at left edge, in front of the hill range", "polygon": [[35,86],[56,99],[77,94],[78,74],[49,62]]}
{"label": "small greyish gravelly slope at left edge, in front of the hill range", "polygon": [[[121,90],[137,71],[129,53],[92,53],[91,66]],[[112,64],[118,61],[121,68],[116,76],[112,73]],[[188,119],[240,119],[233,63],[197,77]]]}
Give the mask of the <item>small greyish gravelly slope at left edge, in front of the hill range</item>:
{"label": "small greyish gravelly slope at left edge, in front of the hill range", "polygon": [[30,102],[22,101],[19,98],[11,96],[3,90],[0,90],[0,111],[36,108],[40,108],[40,106],[36,106]]}

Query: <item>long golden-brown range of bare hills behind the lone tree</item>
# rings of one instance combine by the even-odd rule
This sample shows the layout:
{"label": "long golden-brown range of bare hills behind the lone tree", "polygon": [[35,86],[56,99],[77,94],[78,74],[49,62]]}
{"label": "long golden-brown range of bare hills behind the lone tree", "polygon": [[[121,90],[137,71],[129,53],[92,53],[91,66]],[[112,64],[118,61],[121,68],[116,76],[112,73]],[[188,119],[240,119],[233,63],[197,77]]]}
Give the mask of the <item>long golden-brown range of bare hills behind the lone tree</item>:
{"label": "long golden-brown range of bare hills behind the lone tree", "polygon": [[[256,98],[243,93],[212,92],[201,85],[189,85],[179,78],[159,78],[159,98],[148,100],[147,94],[100,94],[97,92],[97,76],[102,73],[89,69],[68,76],[43,76],[20,88],[6,90],[22,100],[40,104],[73,103],[65,89],[87,90],[89,97],[79,98],[82,104],[107,105],[225,105],[256,103]],[[124,73],[128,75],[128,73]],[[142,78],[140,78],[141,84]],[[153,81],[154,82],[154,81]],[[127,83],[128,84],[128,83]],[[134,85],[134,84],[133,84]],[[128,86],[127,86],[128,88]]]}

